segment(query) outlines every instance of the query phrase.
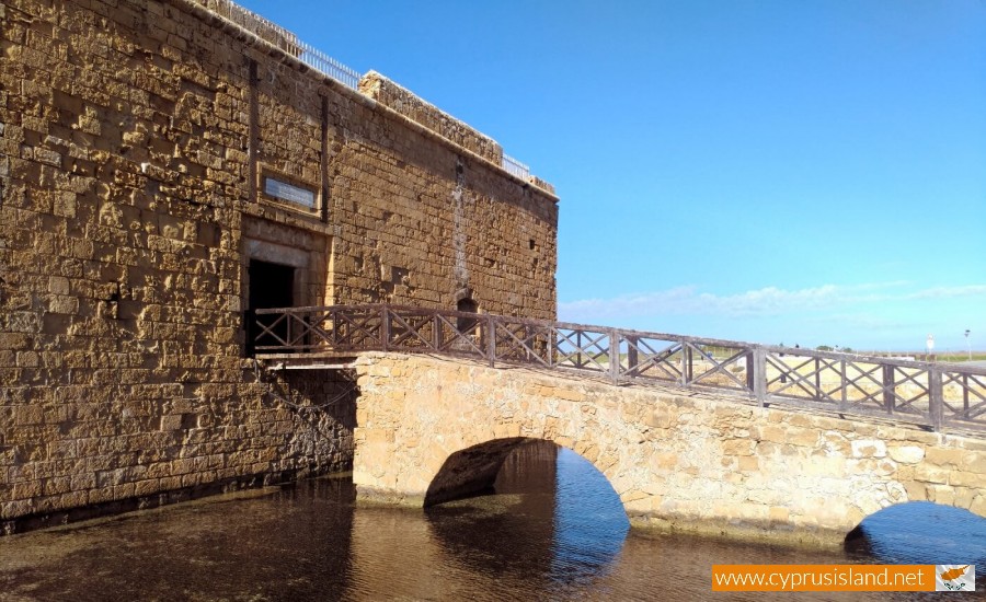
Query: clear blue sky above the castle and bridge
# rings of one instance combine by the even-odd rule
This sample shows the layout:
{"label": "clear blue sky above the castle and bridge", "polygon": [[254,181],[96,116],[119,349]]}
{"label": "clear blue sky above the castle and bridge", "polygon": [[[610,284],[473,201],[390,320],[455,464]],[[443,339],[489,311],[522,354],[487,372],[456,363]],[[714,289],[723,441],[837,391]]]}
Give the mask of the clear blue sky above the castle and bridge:
{"label": "clear blue sky above the castle and bridge", "polygon": [[986,0],[240,3],[554,184],[563,320],[986,349]]}

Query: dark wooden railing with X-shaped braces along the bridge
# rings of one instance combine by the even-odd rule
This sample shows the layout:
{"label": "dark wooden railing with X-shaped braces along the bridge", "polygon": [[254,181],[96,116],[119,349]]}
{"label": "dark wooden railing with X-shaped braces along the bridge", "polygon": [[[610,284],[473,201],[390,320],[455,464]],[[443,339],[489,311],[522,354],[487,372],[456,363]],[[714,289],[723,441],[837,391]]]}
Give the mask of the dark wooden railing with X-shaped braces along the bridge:
{"label": "dark wooden railing with X-shaped braces along the bridge", "polygon": [[400,305],[256,310],[259,358],[448,354],[986,430],[986,369]]}

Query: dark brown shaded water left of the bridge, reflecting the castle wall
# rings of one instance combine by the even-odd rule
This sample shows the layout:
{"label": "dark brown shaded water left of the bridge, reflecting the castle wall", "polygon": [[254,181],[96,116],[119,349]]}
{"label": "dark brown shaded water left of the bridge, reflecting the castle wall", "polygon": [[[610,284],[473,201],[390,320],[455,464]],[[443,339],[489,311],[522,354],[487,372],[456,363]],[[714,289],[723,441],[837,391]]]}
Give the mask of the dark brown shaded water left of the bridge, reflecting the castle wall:
{"label": "dark brown shaded water left of the bridge, reflecting the castle wall", "polygon": [[352,499],[313,481],[0,539],[0,599],[339,599]]}

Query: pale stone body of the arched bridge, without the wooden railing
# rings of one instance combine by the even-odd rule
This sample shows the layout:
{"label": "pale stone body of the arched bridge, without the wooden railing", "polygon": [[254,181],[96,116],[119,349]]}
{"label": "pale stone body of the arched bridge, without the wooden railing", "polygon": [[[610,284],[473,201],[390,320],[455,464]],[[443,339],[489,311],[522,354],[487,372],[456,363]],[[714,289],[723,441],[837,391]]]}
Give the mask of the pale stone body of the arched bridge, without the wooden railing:
{"label": "pale stone body of the arched bridge, without the wooden railing", "polygon": [[591,461],[635,525],[840,544],[906,501],[986,516],[982,438],[429,356],[356,366],[363,500],[483,491],[514,447],[543,439]]}

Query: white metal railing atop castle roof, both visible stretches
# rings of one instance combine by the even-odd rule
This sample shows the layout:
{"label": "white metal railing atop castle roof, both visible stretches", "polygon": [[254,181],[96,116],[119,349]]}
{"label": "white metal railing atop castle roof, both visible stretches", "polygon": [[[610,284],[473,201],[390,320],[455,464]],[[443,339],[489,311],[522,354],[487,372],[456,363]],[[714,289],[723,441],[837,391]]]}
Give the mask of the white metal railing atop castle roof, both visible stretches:
{"label": "white metal railing atop castle roof, both visible stretches", "polygon": [[[257,37],[277,46],[285,53],[294,56],[305,65],[319,73],[345,84],[347,88],[358,91],[359,73],[342,62],[319,50],[314,46],[298,39],[293,32],[280,25],[264,19],[255,12],[244,9],[232,0],[195,0],[215,14],[236,23],[240,27],[252,32]],[[504,153],[501,166],[508,173],[527,182],[530,178],[530,167]]]}

